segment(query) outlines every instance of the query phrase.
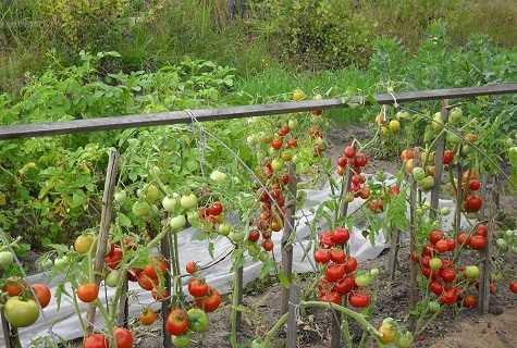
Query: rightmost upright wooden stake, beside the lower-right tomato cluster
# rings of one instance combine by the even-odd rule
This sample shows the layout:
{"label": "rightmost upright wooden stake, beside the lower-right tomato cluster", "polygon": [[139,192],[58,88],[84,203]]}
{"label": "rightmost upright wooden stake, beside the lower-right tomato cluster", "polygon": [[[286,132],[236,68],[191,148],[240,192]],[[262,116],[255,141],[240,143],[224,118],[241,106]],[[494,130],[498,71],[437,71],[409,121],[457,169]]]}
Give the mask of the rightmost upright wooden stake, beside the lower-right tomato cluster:
{"label": "rightmost upright wooden stake, beside the lower-right tomato cluster", "polygon": [[[488,183],[485,184],[488,185]],[[481,277],[479,282],[479,300],[478,308],[481,314],[488,314],[490,306],[490,273],[492,265],[492,239],[495,228],[495,216],[496,216],[496,190],[497,185],[496,181],[491,183],[491,186],[487,188],[487,202],[488,207],[488,235],[487,235],[487,247],[481,251],[480,269]]]}

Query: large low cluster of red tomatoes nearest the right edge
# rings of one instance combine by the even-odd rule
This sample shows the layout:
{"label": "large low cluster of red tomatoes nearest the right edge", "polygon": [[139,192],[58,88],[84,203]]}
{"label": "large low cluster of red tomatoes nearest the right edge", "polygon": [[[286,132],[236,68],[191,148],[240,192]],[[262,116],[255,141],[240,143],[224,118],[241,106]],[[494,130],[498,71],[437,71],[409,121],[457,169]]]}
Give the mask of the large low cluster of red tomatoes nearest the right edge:
{"label": "large low cluster of red tomatoes nearest the right edge", "polygon": [[[478,226],[472,237],[485,238],[487,226]],[[461,235],[460,235],[461,236]],[[463,238],[463,237],[461,237]],[[479,268],[477,265],[458,266],[453,259],[447,257],[463,240],[458,236],[458,243],[447,238],[442,231],[435,229],[429,234],[429,244],[421,252],[420,258],[413,254],[411,259],[419,262],[423,276],[429,278],[429,290],[438,296],[440,303],[454,304],[461,302],[466,308],[475,308],[477,298],[467,294],[470,286],[478,284]],[[491,290],[495,287],[492,284]]]}

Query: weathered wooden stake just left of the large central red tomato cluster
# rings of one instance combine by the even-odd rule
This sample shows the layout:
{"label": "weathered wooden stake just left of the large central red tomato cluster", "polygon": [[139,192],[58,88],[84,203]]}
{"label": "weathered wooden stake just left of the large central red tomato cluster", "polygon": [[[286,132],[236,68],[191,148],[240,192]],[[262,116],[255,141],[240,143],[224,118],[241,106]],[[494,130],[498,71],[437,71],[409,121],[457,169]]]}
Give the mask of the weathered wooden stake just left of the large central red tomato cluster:
{"label": "weathered wooden stake just left of the large central red tomato cluster", "polygon": [[[295,231],[295,215],[296,215],[296,199],[297,199],[297,178],[296,178],[296,165],[294,163],[288,164],[290,183],[287,186],[288,197],[287,207],[285,209],[284,228],[282,234],[282,272],[284,272],[288,282],[293,278],[293,236],[296,235]],[[290,299],[290,288],[282,287],[282,298],[280,303],[280,314],[287,313]]]}

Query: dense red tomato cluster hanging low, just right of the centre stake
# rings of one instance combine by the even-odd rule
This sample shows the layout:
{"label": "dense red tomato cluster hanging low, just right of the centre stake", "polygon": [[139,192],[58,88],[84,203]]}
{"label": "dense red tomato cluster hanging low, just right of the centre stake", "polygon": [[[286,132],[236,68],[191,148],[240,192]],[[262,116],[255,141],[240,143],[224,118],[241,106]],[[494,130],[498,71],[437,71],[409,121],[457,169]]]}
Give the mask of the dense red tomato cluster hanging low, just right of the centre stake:
{"label": "dense red tomato cluster hanging low, just right of the centre stake", "polygon": [[370,296],[364,291],[372,281],[370,273],[357,273],[357,259],[346,254],[343,246],[349,239],[345,227],[337,227],[320,235],[315,261],[321,265],[322,277],[318,283],[321,301],[342,304],[343,296],[356,308],[370,304]]}

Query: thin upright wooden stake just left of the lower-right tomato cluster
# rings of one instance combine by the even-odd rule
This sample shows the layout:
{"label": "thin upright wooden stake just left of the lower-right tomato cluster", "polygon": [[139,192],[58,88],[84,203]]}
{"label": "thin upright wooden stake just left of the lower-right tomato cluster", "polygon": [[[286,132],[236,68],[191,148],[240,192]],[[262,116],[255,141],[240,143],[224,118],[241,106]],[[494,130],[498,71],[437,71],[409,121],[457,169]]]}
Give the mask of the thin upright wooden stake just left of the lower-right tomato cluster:
{"label": "thin upright wooden stake just left of the lower-right tomato cluster", "polygon": [[[417,252],[417,182],[409,177],[411,188],[409,191],[409,310],[413,312],[418,304],[417,263],[413,261],[413,254]],[[417,321],[415,315],[409,318],[409,330],[415,332]]]}

